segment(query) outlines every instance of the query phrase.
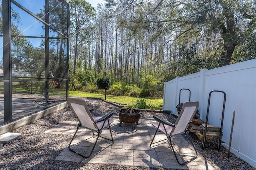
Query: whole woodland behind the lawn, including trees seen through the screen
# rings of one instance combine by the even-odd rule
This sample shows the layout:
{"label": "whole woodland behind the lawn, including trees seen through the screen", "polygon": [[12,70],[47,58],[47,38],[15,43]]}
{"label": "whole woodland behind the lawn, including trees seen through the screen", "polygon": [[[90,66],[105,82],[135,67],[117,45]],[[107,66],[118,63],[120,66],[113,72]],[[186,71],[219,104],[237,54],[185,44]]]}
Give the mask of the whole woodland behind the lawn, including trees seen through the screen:
{"label": "whole woodland behind the lawn, including trees seen through the screen", "polygon": [[[96,9],[86,0],[69,1],[72,89],[95,91],[96,80],[109,77],[118,88],[131,85],[133,91],[120,94],[159,97],[164,81],[176,76],[256,58],[254,0],[106,1]],[[67,6],[54,0],[49,5],[52,29],[67,35]],[[41,9],[37,16],[43,15]],[[13,36],[21,34],[15,10],[12,22]],[[43,43],[34,47],[22,36],[15,38],[12,62],[40,78],[47,66],[43,57],[49,55],[50,77],[65,77],[67,41],[60,35],[50,39],[49,54]]]}

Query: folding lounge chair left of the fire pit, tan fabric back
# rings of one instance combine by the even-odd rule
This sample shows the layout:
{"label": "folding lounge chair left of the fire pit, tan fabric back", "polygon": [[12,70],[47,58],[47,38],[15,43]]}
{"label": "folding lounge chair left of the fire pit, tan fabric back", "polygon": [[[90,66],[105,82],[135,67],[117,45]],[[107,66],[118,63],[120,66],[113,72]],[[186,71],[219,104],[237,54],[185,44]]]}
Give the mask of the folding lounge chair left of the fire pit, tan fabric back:
{"label": "folding lounge chair left of the fire pit, tan fabric back", "polygon": [[[90,152],[89,156],[84,156],[82,154],[79,154],[78,152],[76,152],[75,150],[72,150],[70,148],[70,144],[72,143],[74,137],[76,136],[76,132],[75,132],[72,140],[70,141],[70,144],[68,145],[68,149],[70,151],[82,156],[83,158],[89,158],[96,146],[98,138],[102,137],[102,136],[100,136],[102,129],[107,126],[110,130],[112,144],[114,143],[111,128],[110,128],[110,124],[113,122],[113,120],[109,119],[113,115],[113,113],[108,113],[104,117],[92,117],[92,115],[87,107],[86,101],[68,97],[67,102],[68,102],[70,109],[74,113],[75,117],[77,117],[77,119],[79,121],[76,132],[78,131],[78,129],[80,127],[84,127],[89,130],[92,130],[93,136],[94,136],[94,132],[98,133],[98,136],[96,138],[96,141],[94,143],[94,146],[93,146],[92,151]],[[104,137],[102,137],[102,138],[104,138]],[[105,139],[110,140],[108,138],[105,138]]]}

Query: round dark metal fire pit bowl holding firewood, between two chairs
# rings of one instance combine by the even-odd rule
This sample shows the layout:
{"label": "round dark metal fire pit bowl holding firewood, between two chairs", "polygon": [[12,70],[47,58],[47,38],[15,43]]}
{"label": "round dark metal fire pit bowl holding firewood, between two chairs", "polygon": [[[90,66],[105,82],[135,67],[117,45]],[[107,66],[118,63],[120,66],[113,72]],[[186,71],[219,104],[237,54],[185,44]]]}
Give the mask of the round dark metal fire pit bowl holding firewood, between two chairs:
{"label": "round dark metal fire pit bowl holding firewood, between two chairs", "polygon": [[122,108],[118,109],[116,111],[119,114],[119,127],[122,125],[122,123],[130,123],[132,126],[132,129],[135,128],[135,123],[139,125],[138,121],[140,120],[140,114],[142,114],[142,111],[139,109],[132,109],[132,108]]}

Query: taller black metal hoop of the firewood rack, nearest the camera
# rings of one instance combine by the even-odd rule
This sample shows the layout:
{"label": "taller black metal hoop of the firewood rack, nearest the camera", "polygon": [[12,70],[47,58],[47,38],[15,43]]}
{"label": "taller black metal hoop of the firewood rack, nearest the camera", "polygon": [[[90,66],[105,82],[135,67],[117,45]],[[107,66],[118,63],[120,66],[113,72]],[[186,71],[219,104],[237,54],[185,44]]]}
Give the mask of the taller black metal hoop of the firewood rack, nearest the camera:
{"label": "taller black metal hoop of the firewood rack, nearest the camera", "polygon": [[[207,124],[208,124],[208,115],[209,115],[209,107],[210,107],[210,99],[211,99],[212,92],[221,92],[221,93],[224,94],[223,108],[222,108],[222,118],[221,118],[221,125],[220,125],[220,137],[219,137],[217,147],[205,146],[205,140],[206,140],[206,134],[207,134]],[[220,151],[220,144],[221,144],[221,138],[222,138],[222,128],[223,128],[223,119],[224,119],[224,111],[225,111],[225,103],[226,103],[226,93],[224,91],[213,90],[209,93],[207,113],[206,113],[206,122],[205,122],[205,128],[204,128],[204,140],[203,140],[203,144],[202,144],[202,149],[203,150],[204,150],[204,148],[216,148],[218,151]]]}

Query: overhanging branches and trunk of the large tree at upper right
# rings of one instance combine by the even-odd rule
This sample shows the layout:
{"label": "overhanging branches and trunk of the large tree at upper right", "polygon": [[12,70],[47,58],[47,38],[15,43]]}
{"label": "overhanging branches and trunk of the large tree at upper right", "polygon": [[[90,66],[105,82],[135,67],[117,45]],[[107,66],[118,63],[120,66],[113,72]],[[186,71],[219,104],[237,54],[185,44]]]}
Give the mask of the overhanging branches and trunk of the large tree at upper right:
{"label": "overhanging branches and trunk of the large tree at upper right", "polygon": [[216,50],[220,50],[220,66],[230,64],[235,47],[256,29],[254,0],[107,1],[116,15],[135,29],[157,24],[158,34],[170,30],[174,40],[185,36],[194,43],[215,43]]}

